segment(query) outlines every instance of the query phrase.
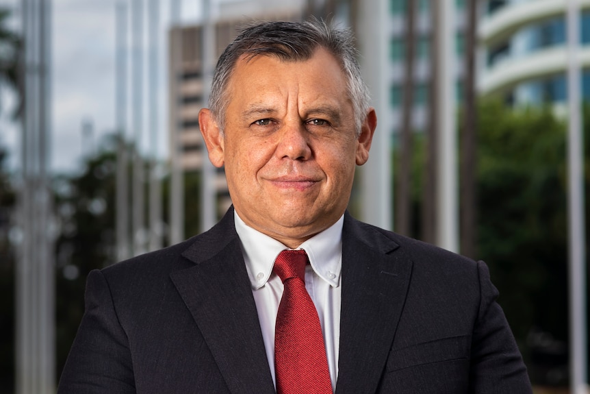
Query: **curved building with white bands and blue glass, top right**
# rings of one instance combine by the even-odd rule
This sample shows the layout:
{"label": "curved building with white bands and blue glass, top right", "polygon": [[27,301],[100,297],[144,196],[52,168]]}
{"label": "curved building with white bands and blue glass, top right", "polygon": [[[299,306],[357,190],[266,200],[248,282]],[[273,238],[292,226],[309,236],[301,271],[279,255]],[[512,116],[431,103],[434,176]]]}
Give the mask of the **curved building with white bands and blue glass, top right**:
{"label": "curved building with white bands and blue glass, top right", "polygon": [[[590,0],[578,0],[582,98],[590,101]],[[567,1],[487,0],[483,3],[478,90],[514,106],[567,99]]]}

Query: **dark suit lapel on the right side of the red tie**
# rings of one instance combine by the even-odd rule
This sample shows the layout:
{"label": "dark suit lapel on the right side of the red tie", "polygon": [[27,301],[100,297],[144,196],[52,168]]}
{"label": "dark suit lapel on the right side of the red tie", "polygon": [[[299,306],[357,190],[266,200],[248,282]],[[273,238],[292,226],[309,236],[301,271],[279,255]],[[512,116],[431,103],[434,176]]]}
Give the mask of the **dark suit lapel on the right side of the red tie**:
{"label": "dark suit lapel on the right side of the red tie", "polygon": [[411,261],[398,245],[346,214],[337,394],[374,393],[405,303]]}

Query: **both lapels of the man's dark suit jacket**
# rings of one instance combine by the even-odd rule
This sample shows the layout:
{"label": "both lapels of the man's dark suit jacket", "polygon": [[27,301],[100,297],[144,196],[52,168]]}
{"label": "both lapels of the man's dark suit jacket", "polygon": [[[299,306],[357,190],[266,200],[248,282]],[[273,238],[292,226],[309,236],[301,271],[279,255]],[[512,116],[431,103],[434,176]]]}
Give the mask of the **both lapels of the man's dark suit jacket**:
{"label": "both lapels of the man's dark suit jacket", "polygon": [[[344,217],[337,394],[374,393],[409,287],[412,263],[392,233]],[[171,274],[231,393],[274,393],[233,208]]]}

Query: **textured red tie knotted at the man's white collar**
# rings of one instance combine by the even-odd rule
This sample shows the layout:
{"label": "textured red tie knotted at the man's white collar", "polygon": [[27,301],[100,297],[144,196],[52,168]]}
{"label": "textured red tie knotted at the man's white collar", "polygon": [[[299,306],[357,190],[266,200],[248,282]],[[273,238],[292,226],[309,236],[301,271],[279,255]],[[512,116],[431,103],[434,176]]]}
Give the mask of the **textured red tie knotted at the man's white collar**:
{"label": "textured red tie knotted at the man's white collar", "polygon": [[285,286],[274,334],[277,394],[332,393],[318,311],[305,289],[305,264],[305,250],[283,250],[274,261]]}

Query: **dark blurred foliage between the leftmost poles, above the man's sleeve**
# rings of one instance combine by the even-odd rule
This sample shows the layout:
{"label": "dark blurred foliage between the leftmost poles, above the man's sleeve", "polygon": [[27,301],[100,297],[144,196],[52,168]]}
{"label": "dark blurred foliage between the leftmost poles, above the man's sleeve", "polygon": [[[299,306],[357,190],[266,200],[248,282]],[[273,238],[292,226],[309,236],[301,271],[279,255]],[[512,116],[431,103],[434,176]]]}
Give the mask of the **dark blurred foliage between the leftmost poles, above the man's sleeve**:
{"label": "dark blurred foliage between the leftmost poles, above the man's sleeve", "polygon": [[61,371],[84,313],[86,276],[114,262],[116,156],[104,149],[77,175],[54,180],[60,219],[56,245],[56,351]]}

